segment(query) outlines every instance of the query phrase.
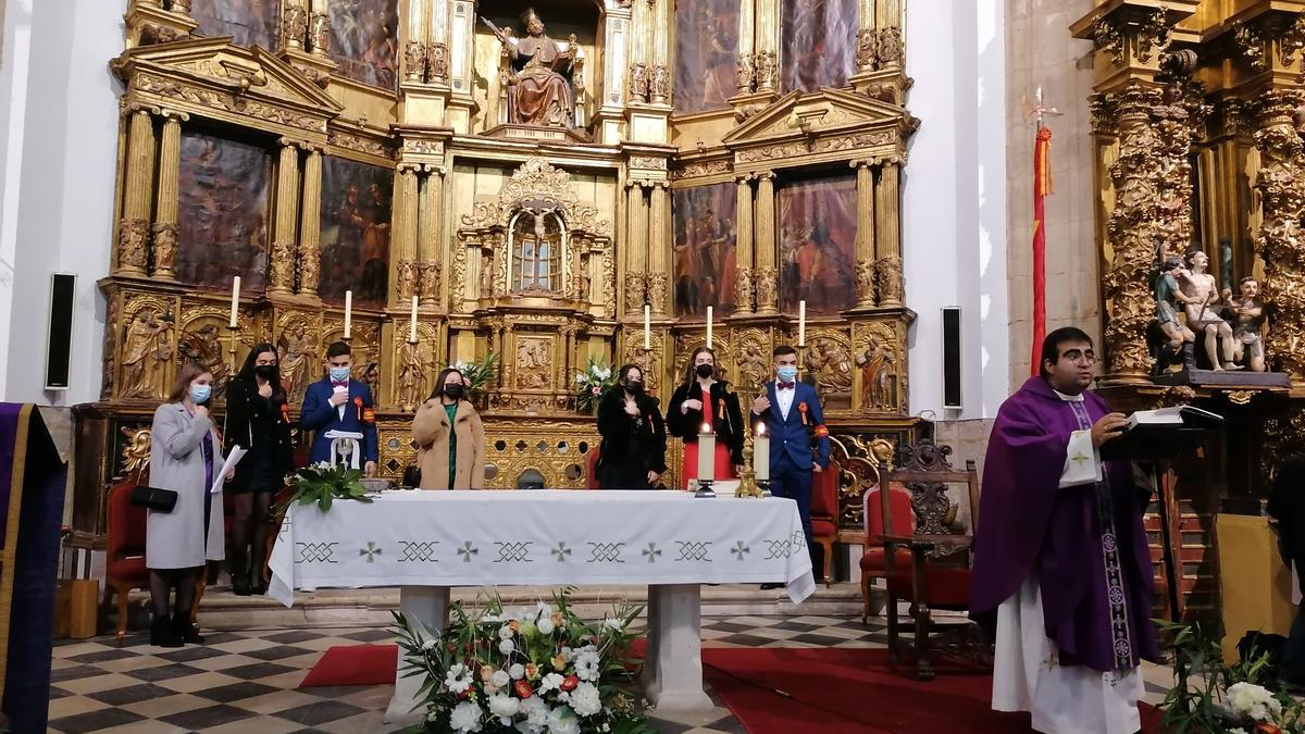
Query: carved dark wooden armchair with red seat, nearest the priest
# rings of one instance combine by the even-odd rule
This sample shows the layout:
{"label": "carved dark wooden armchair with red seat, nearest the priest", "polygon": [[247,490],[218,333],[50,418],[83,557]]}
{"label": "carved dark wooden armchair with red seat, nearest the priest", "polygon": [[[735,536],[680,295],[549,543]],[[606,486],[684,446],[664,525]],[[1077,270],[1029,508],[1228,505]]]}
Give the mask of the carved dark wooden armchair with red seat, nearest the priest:
{"label": "carved dark wooden armchair with red seat, nearest the priest", "polygon": [[[915,677],[929,680],[934,677],[929,662],[930,632],[936,631],[933,610],[967,611],[970,609],[971,546],[974,528],[979,522],[979,473],[974,461],[966,461],[964,471],[953,469],[947,461],[950,447],[936,445],[921,439],[914,447],[902,448],[902,466],[890,470],[881,461],[880,475],[890,490],[880,492],[880,512],[883,517],[883,560],[887,571],[889,657],[897,660],[902,630],[914,632],[911,645]],[[894,519],[893,487],[900,485],[911,495],[915,528],[898,528]],[[970,502],[970,522],[957,521],[958,507],[947,496],[951,485],[964,485]],[[898,563],[899,550],[908,550],[911,563]],[[910,602],[912,622],[898,622],[898,602]],[[970,623],[949,626],[959,632],[958,652],[966,654],[976,643],[975,628]],[[934,641],[936,643],[936,641]],[[984,654],[983,657],[990,656]]]}

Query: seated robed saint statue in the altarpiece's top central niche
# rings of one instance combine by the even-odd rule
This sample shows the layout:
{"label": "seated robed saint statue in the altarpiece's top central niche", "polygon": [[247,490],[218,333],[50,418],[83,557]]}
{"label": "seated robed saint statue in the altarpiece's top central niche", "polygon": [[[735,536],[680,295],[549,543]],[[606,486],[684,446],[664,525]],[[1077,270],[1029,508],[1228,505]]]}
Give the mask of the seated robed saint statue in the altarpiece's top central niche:
{"label": "seated robed saint statue in the altarpiece's top central niche", "polygon": [[508,121],[522,125],[573,128],[576,98],[569,78],[574,50],[544,33],[544,21],[526,10],[526,37],[509,38],[485,25],[506,47],[513,74],[508,80]]}

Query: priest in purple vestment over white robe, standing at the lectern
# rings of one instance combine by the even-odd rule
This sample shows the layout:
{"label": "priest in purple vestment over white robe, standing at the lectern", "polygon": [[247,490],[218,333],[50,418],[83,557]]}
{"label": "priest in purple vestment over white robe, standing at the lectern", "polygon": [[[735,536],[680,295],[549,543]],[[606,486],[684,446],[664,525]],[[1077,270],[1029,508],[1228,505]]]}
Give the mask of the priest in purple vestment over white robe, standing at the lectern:
{"label": "priest in purple vestment over white robe, standing at the lectern", "polygon": [[1090,392],[1079,329],[1047,334],[1040,376],[1002,404],[988,443],[971,615],[996,624],[993,708],[1047,734],[1141,729],[1142,658],[1159,656],[1150,491],[1100,447],[1128,419]]}

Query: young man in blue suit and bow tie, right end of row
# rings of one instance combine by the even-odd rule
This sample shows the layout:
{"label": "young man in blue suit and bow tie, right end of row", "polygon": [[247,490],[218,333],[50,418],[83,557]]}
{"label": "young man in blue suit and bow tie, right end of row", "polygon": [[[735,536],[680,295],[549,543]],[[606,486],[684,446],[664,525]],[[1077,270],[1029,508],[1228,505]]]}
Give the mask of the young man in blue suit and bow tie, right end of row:
{"label": "young man in blue suit and bow tie, right end of row", "polygon": [[[774,381],[752,401],[752,423],[770,435],[770,491],[797,502],[808,552],[812,550],[812,473],[829,468],[829,428],[816,388],[797,381],[797,350],[776,346]],[[814,560],[812,564],[814,567]],[[778,588],[778,584],[766,584]],[[763,586],[763,588],[766,588]]]}

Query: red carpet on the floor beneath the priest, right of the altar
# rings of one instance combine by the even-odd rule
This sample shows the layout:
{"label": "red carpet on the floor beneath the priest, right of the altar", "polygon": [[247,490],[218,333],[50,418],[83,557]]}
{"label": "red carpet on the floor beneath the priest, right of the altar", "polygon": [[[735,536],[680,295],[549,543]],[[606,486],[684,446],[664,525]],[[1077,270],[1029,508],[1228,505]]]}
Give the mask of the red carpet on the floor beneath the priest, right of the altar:
{"label": "red carpet on the floor beneath the priest, right of the altar", "polygon": [[[890,667],[882,649],[705,649],[702,665],[750,734],[1032,731],[1027,713],[989,708],[992,677],[967,663],[940,667],[929,682],[911,678],[904,665]],[[1142,717],[1146,731],[1159,733],[1151,707]]]}

